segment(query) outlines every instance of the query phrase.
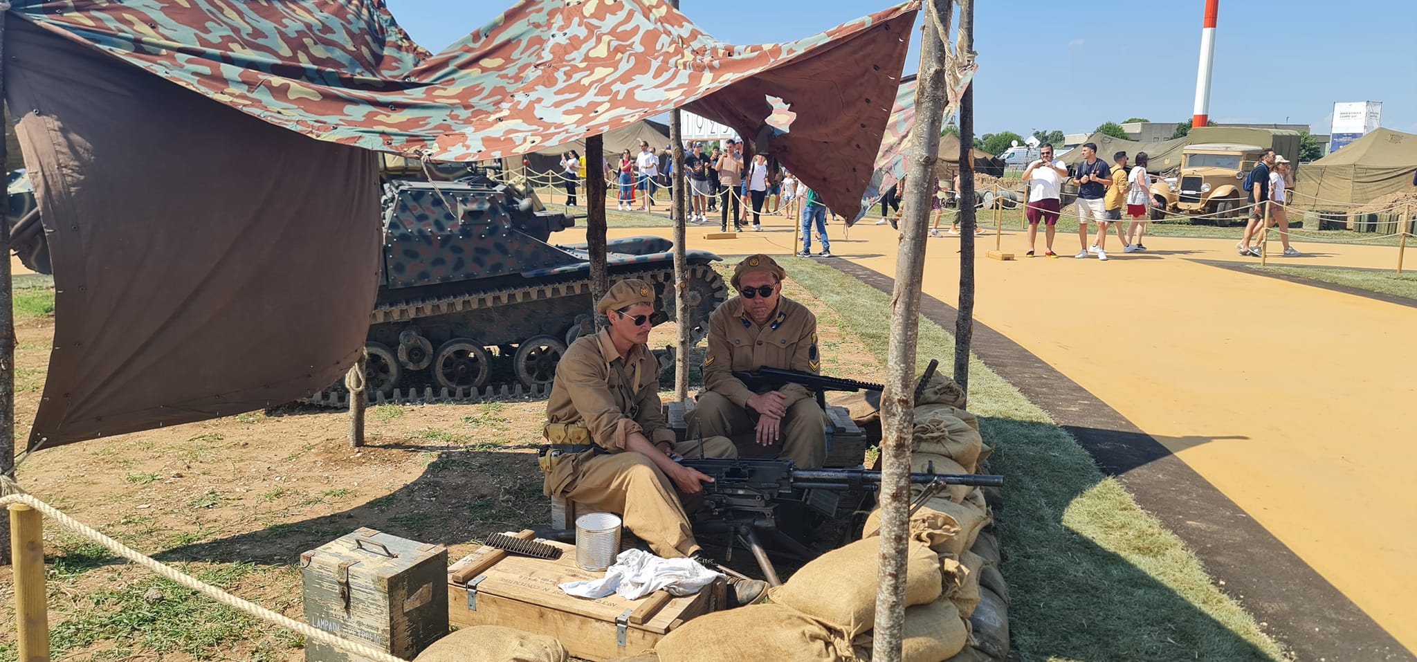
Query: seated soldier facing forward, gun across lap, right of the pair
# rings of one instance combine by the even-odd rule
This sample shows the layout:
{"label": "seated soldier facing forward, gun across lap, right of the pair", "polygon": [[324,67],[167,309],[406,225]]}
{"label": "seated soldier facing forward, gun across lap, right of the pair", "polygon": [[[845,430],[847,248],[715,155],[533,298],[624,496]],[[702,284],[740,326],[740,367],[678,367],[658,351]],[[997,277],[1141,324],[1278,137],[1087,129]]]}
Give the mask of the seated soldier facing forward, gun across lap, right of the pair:
{"label": "seated soldier facing forward, gun across lap, right of the pair", "polygon": [[738,296],[708,318],[704,393],[689,414],[690,437],[734,437],[752,432],[771,447],[782,441],[782,459],[819,468],[826,461],[826,413],[801,384],[754,393],[733,376],[760,367],[820,373],[816,316],[782,296],[786,272],[767,255],[751,255],[733,269]]}

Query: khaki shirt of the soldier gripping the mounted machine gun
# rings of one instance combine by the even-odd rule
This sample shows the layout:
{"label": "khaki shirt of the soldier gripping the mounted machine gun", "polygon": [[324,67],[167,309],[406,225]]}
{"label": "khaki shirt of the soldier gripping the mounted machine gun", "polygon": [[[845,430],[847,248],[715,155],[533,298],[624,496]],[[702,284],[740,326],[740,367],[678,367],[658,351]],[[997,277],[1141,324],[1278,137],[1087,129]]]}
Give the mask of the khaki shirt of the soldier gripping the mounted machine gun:
{"label": "khaki shirt of the soldier gripping the mounted machine gun", "polygon": [[[616,370],[619,366],[621,370]],[[621,386],[621,371],[631,381]],[[643,434],[650,442],[674,441],[659,403],[659,363],[649,347],[636,344],[621,357],[609,329],[581,336],[555,367],[546,404],[547,422],[582,422],[591,441],[606,451],[623,451],[625,439]]]}

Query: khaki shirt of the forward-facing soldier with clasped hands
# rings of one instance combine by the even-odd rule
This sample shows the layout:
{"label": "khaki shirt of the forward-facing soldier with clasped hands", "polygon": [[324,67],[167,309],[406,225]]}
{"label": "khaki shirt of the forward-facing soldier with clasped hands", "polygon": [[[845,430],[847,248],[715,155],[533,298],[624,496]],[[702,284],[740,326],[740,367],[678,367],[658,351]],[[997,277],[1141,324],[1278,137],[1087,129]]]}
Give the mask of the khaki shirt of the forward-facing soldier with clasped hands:
{"label": "khaki shirt of the forward-facing soldier with clasped hands", "polygon": [[[704,387],[738,407],[747,407],[748,398],[755,393],[733,373],[735,370],[747,373],[760,367],[820,374],[816,315],[782,296],[778,299],[778,312],[768,319],[767,326],[758,326],[743,309],[741,296],[734,296],[718,306],[708,318]],[[785,384],[778,391],[786,395],[789,407],[798,400],[813,397],[812,391],[801,384]]]}

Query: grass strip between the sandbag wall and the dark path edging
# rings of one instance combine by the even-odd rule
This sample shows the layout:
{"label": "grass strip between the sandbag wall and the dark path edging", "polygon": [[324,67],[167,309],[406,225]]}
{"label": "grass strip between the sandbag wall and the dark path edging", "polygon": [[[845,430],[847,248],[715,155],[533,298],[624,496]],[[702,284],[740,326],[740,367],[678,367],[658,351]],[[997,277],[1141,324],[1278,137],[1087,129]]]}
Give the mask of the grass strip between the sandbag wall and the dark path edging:
{"label": "grass strip between the sandbag wall and the dark path edging", "polygon": [[[809,259],[784,267],[886,363],[888,295]],[[954,356],[952,336],[925,319],[918,346],[917,369],[937,357],[948,366]],[[1007,481],[998,519],[1015,658],[1284,659],[1185,543],[1047,413],[978,359],[969,381],[969,408],[995,447],[989,471]]]}

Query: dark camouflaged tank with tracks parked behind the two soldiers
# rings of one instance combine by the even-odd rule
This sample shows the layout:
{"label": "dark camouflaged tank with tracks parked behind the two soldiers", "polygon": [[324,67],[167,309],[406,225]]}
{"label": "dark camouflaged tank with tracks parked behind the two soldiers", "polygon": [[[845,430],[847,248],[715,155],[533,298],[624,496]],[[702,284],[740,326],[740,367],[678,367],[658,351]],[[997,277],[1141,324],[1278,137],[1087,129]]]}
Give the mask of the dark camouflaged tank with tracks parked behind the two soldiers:
{"label": "dark camouflaged tank with tracks parked behind the two soldiers", "polygon": [[[550,244],[574,227],[534,193],[473,174],[458,181],[384,184],[380,291],[368,329],[371,403],[468,401],[544,394],[555,364],[592,332],[585,244]],[[639,278],[656,291],[655,319],[673,320],[673,242],[633,237],[608,242],[611,281]],[[711,268],[689,251],[690,336],[727,296]],[[332,387],[315,400],[343,405]]]}

